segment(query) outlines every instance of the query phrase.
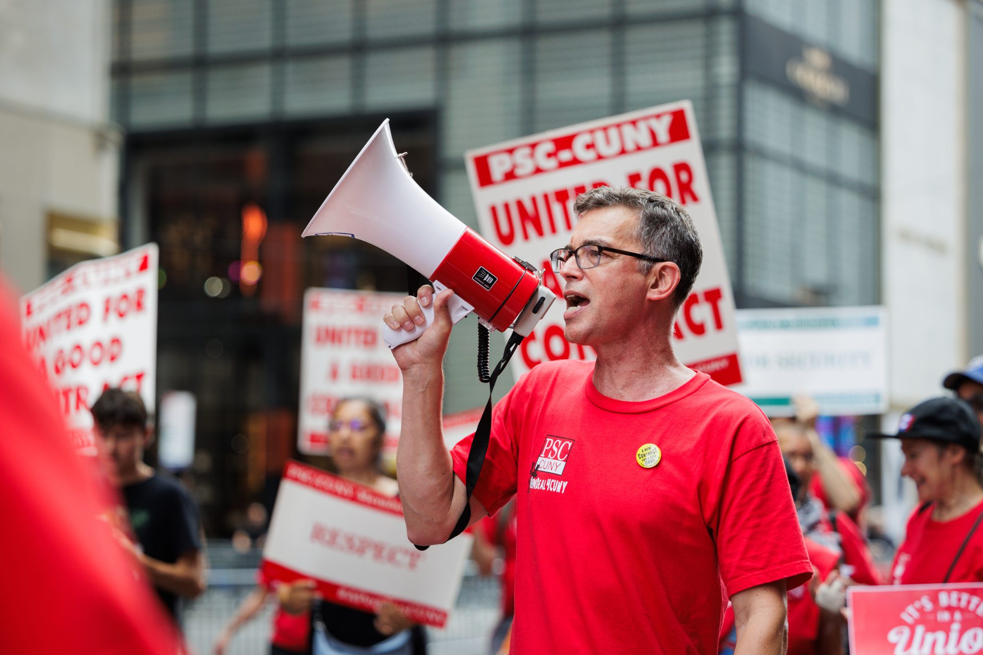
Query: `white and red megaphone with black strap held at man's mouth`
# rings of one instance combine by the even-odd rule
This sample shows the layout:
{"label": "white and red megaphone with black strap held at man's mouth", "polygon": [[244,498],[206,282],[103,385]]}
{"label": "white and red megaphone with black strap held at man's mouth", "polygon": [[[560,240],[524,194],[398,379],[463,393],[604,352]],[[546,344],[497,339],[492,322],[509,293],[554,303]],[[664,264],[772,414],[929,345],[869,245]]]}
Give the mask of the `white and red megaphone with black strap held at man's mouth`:
{"label": "white and red megaphone with black strap held at man's mouth", "polygon": [[[386,119],[318,208],[303,236],[348,236],[381,248],[426,275],[434,288],[453,289],[448,304],[457,323],[472,311],[485,327],[511,327],[528,336],[556,299],[540,284],[541,272],[509,259],[470,227],[437,205],[413,181],[396,153]],[[383,327],[390,348],[412,341],[434,320],[412,332]]]}

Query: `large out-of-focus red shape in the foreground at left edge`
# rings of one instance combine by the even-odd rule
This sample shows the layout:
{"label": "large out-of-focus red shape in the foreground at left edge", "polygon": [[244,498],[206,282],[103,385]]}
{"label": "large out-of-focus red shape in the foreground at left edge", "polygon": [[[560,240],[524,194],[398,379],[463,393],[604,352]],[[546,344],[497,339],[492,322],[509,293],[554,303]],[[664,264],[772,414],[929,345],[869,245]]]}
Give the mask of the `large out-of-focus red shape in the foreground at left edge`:
{"label": "large out-of-focus red shape in the foreground at left edge", "polygon": [[55,396],[20,346],[0,280],[0,540],[5,653],[176,655],[184,647],[110,520],[121,504],[71,445]]}

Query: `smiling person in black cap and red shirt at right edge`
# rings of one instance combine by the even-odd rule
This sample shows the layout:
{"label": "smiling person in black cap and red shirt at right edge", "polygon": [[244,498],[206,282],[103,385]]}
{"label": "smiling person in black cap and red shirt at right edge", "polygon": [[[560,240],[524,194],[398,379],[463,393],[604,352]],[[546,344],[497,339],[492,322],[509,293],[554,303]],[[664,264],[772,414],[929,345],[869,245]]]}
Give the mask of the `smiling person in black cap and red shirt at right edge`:
{"label": "smiling person in black cap and red shirt at right edge", "polygon": [[897,434],[868,436],[901,440],[901,475],[918,489],[892,582],[983,581],[980,423],[972,408],[958,398],[931,398],[901,416]]}

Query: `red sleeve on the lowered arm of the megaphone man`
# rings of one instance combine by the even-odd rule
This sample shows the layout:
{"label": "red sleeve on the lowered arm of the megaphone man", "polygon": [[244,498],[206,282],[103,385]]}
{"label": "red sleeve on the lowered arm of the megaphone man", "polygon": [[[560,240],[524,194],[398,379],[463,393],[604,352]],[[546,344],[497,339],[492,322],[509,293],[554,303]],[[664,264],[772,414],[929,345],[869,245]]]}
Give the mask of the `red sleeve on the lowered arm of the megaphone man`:
{"label": "red sleeve on the lowered arm of the megaphone man", "polygon": [[[751,447],[742,451],[746,445]],[[793,589],[812,577],[812,565],[768,421],[763,416],[744,421],[732,452],[716,535],[727,595],[778,580]]]}

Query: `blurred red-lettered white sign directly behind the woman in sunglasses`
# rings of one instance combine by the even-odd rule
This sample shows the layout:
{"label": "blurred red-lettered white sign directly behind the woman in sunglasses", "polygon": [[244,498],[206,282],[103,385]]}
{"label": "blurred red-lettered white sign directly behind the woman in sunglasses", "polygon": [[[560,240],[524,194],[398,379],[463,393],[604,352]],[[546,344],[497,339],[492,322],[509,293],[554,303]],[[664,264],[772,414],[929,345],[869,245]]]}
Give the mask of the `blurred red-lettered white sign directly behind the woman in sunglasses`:
{"label": "blurred red-lettered white sign directly behind the woman in sunglasses", "polygon": [[393,459],[399,439],[403,377],[382,341],[382,316],[403,296],[376,291],[308,289],[304,293],[301,400],[297,447],[328,454],[327,422],[349,396],[385,406],[383,456]]}

